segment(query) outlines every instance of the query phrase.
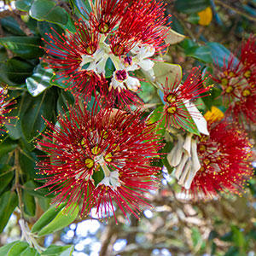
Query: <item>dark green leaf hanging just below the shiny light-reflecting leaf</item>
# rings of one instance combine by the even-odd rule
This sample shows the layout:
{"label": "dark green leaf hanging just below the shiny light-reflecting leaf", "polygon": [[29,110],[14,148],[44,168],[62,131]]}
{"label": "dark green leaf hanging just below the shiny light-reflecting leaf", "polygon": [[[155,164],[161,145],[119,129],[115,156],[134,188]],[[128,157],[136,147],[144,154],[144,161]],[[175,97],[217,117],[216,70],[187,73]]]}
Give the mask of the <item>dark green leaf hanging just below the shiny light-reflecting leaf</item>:
{"label": "dark green leaf hanging just below the shiny light-reflecting leaf", "polygon": [[[28,99],[28,108],[21,119],[21,128],[28,142],[44,131],[44,119],[50,120],[55,113],[55,94],[53,90],[45,90],[36,98]],[[44,119],[42,118],[44,117]]]}

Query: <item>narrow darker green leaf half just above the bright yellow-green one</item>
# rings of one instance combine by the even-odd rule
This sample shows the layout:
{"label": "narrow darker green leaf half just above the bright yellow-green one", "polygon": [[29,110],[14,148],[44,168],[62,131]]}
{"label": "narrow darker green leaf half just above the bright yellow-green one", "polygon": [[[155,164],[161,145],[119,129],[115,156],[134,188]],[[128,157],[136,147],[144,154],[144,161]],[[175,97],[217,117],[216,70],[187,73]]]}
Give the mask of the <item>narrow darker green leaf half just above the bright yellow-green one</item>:
{"label": "narrow darker green leaf half just above the bright yellow-green one", "polygon": [[40,230],[42,230],[45,226],[47,226],[56,216],[59,212],[61,212],[61,209],[65,207],[66,203],[62,203],[59,207],[50,207],[44,214],[38,218],[37,222],[33,224],[32,226],[32,233],[36,233]]}

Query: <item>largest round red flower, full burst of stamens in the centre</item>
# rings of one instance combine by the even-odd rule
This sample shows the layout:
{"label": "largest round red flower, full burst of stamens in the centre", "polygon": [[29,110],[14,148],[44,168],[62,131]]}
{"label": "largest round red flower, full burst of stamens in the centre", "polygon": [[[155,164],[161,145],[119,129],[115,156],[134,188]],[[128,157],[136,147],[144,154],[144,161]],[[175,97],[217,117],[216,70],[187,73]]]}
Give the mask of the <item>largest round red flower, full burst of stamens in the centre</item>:
{"label": "largest round red flower, full burst of stamens in the centre", "polygon": [[78,106],[60,116],[58,125],[46,121],[38,148],[47,155],[38,168],[47,177],[44,187],[55,194],[55,202],[67,207],[80,202],[81,215],[96,207],[100,218],[114,214],[114,205],[128,218],[149,207],[144,192],[157,189],[151,163],[158,157],[160,139],[155,125],[139,113],[97,108],[90,113]]}

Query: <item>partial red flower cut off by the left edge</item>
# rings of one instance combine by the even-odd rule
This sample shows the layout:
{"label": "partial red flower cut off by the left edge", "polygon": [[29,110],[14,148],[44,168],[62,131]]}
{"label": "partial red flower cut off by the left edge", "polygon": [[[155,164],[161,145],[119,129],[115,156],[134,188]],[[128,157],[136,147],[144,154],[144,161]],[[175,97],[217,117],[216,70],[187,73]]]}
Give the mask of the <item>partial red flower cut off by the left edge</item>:
{"label": "partial red flower cut off by the left edge", "polygon": [[[9,124],[11,119],[17,119],[15,116],[7,116],[14,109],[14,104],[16,103],[12,99],[9,100],[9,95],[7,94],[7,88],[0,88],[0,131],[6,131],[3,129],[3,125]],[[10,125],[10,124],[9,124]],[[3,136],[3,134],[1,134]]]}

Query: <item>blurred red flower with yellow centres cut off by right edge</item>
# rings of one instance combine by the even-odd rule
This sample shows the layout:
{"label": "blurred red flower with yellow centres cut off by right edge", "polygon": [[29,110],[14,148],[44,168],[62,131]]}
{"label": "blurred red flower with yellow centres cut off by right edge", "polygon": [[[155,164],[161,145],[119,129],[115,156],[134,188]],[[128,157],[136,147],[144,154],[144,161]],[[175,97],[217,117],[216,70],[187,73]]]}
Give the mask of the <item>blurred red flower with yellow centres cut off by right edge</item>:
{"label": "blurred red flower with yellow centres cut off by right edge", "polygon": [[241,45],[240,60],[235,55],[224,58],[224,66],[218,67],[214,80],[222,88],[227,115],[236,122],[256,122],[256,37],[251,35]]}

